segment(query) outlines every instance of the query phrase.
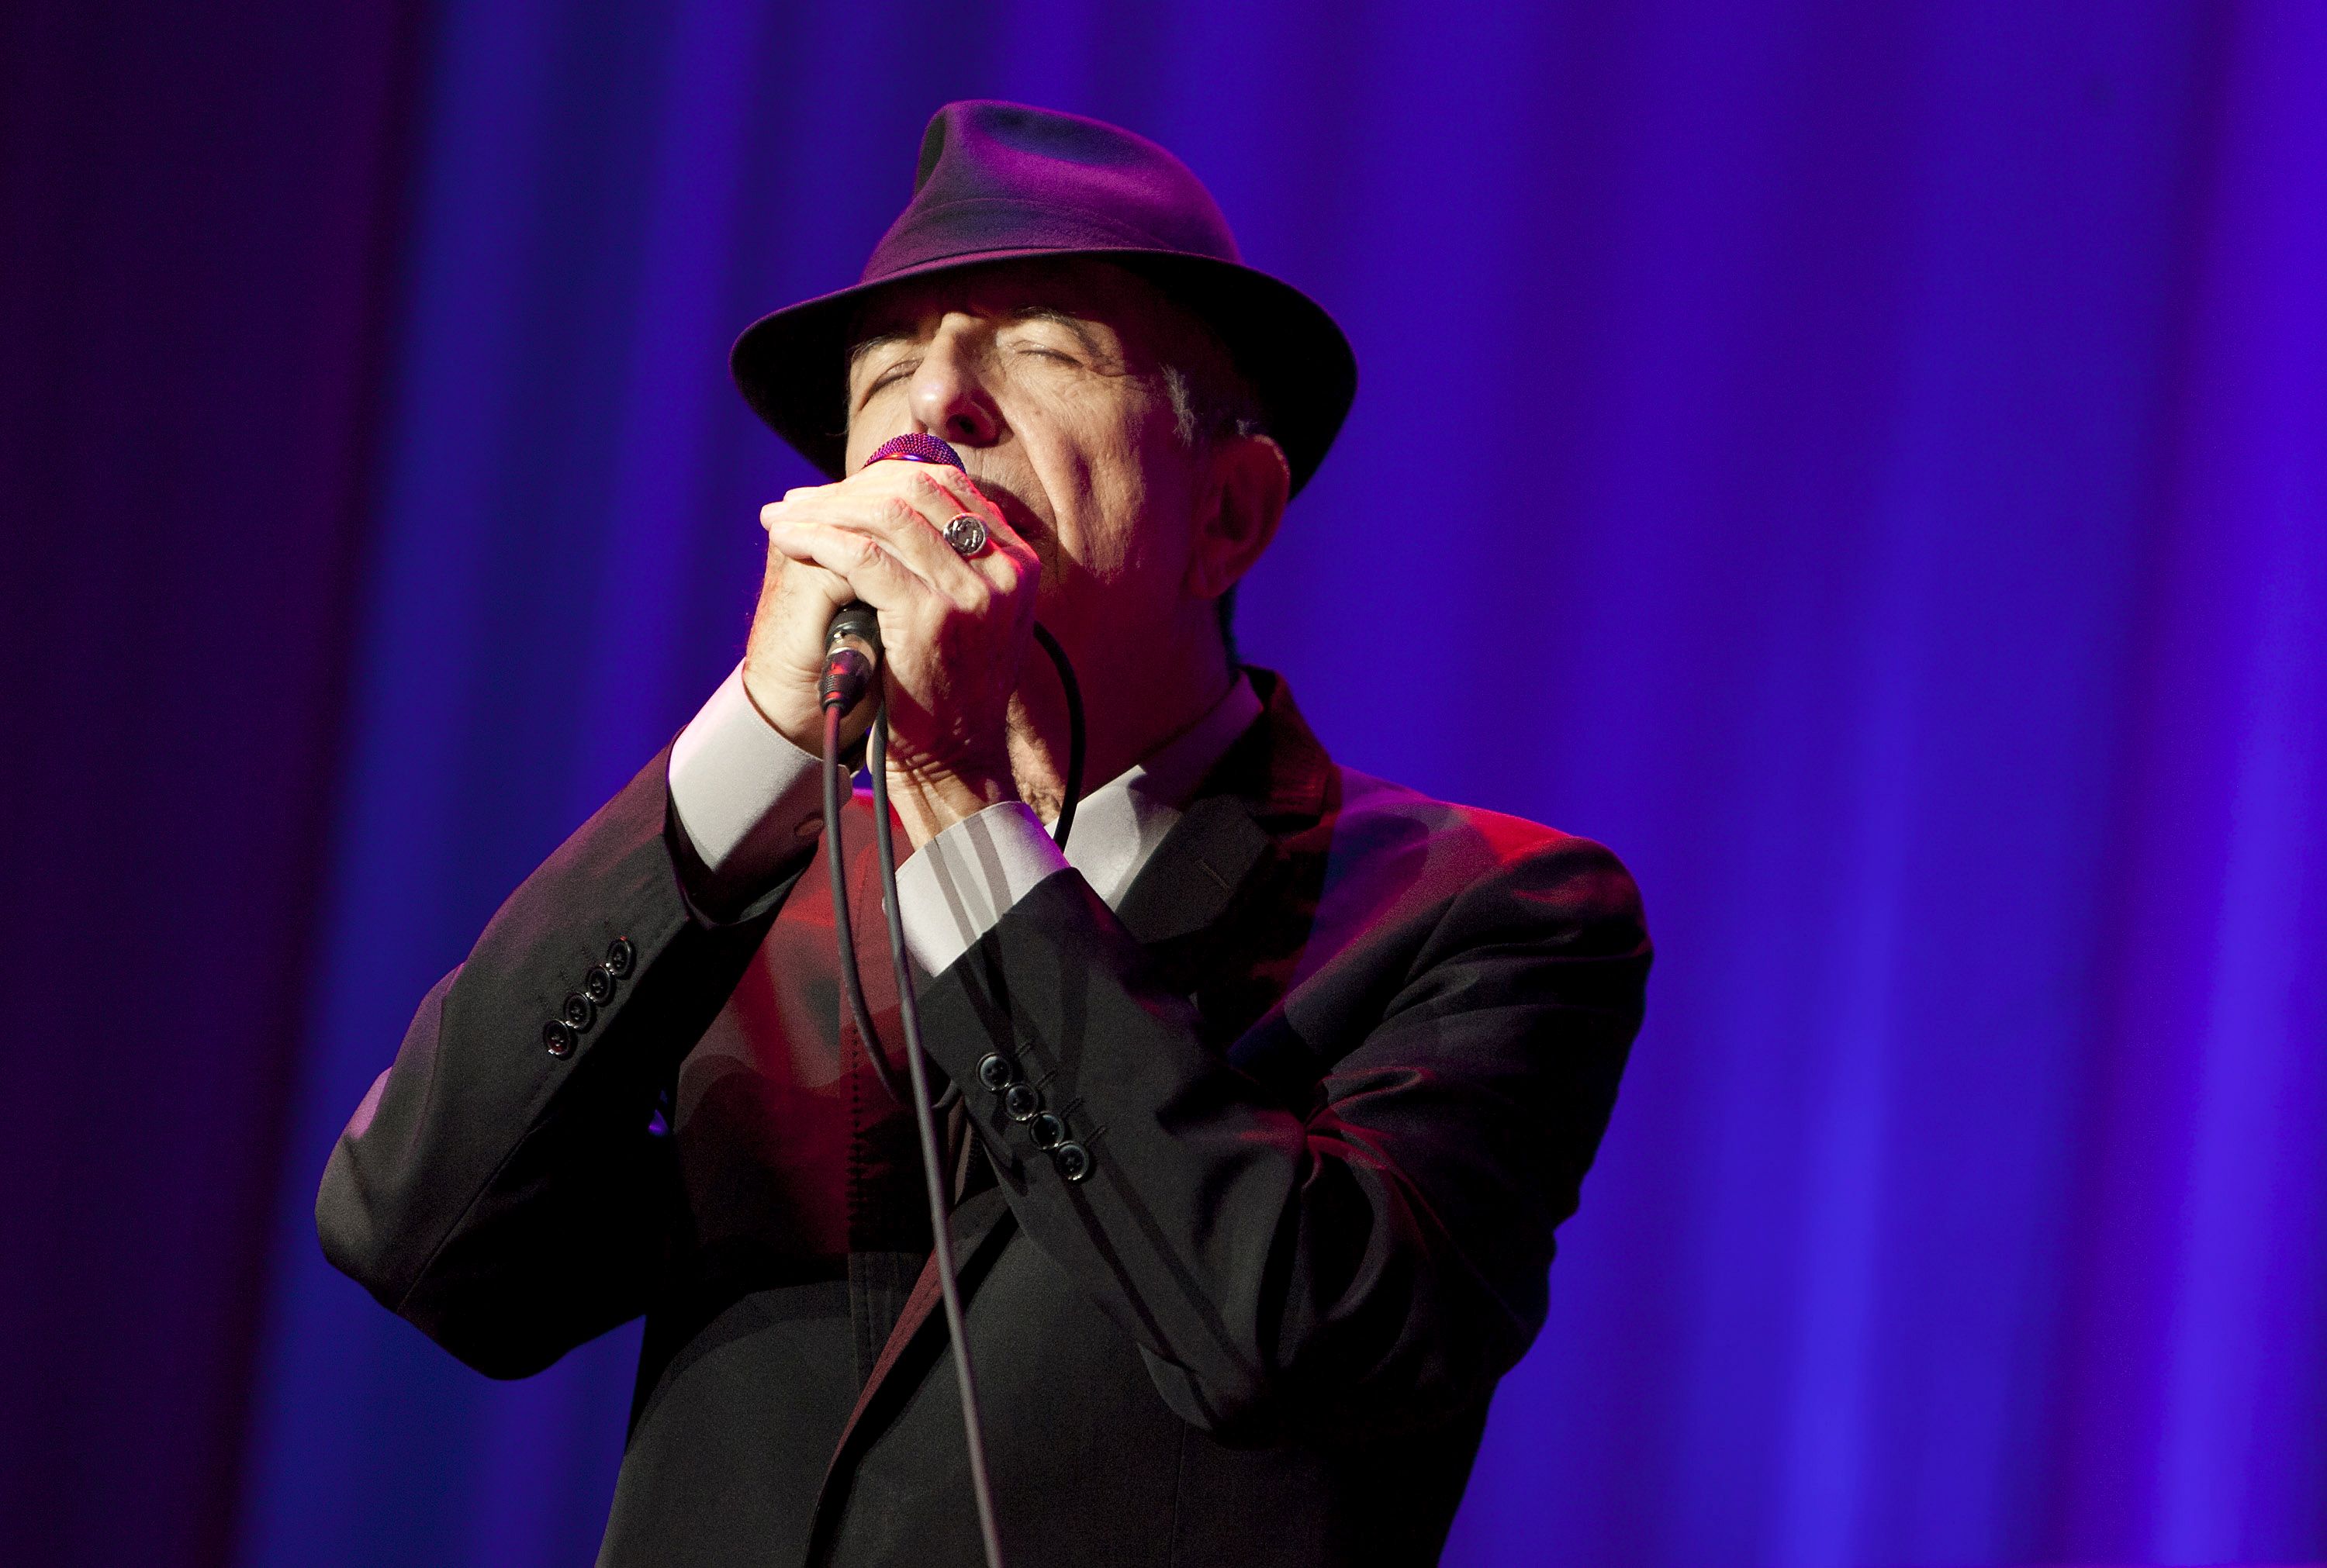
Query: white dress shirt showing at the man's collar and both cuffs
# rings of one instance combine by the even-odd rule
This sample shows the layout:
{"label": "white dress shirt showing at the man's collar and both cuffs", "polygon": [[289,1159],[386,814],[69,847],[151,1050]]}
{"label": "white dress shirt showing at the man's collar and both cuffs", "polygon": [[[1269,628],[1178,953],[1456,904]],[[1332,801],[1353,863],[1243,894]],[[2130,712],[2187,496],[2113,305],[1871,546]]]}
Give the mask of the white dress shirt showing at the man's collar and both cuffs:
{"label": "white dress shirt showing at the man's collar and both cuffs", "polygon": [[[1203,775],[1259,717],[1261,698],[1238,672],[1196,724],[1082,798],[1063,854],[1022,800],[989,805],[921,844],[896,868],[915,963],[926,975],[945,972],[1010,905],[1068,865],[1115,907]],[[670,747],[670,805],[714,886],[766,882],[817,833],[819,768],[761,717],[735,665]]]}

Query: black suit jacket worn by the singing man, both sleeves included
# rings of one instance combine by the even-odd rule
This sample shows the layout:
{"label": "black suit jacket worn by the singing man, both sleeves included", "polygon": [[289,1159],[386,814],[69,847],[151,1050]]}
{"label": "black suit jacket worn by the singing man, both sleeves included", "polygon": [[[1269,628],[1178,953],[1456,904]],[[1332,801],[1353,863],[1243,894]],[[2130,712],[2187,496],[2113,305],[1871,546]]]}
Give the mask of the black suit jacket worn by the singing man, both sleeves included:
{"label": "black suit jacket worn by the singing man, both sleeves included", "polygon": [[[954,1231],[1017,1563],[1436,1561],[1641,1021],[1648,935],[1606,849],[1340,770],[1254,684],[1264,719],[1119,912],[1052,877],[921,991],[975,1128]],[[323,1247],[498,1377],[647,1314],[600,1561],[975,1563],[926,1221],[863,1196],[917,1184],[910,1131],[831,1156],[845,1252],[787,1245],[733,1159],[689,1156],[742,1138],[675,1089],[754,961],[787,1005],[838,1000],[784,947],[805,863],[738,919],[689,903],[663,770],[426,998],[333,1152]],[[554,1054],[577,986],[605,1000]],[[798,1154],[768,1121],[761,1159]]]}

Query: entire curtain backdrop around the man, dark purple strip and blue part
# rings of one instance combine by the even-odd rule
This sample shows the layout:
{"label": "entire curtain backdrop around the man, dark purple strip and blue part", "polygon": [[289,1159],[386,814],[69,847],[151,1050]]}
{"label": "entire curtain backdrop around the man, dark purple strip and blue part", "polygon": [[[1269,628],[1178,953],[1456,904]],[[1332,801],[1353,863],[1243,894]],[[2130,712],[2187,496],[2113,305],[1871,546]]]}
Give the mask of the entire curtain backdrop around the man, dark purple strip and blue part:
{"label": "entire curtain backdrop around the man, dark purple strip and blue part", "polygon": [[2306,0],[16,0],[0,1556],[589,1561],[635,1331],[489,1384],[314,1182],[738,656],[726,342],[963,95],[1350,328],[1247,656],[1648,893],[1450,1563],[2327,1556]]}

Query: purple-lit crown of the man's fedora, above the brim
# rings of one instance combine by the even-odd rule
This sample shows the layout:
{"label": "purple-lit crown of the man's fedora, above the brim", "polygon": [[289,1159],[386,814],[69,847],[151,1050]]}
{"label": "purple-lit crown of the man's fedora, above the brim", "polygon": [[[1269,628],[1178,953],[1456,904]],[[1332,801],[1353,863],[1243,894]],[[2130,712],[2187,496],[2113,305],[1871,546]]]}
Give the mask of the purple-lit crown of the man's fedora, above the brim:
{"label": "purple-lit crown of the man's fedora, above the brim", "polygon": [[1196,172],[1122,126],[963,100],[921,135],[912,200],[859,281],[977,251],[1177,251],[1240,263]]}

